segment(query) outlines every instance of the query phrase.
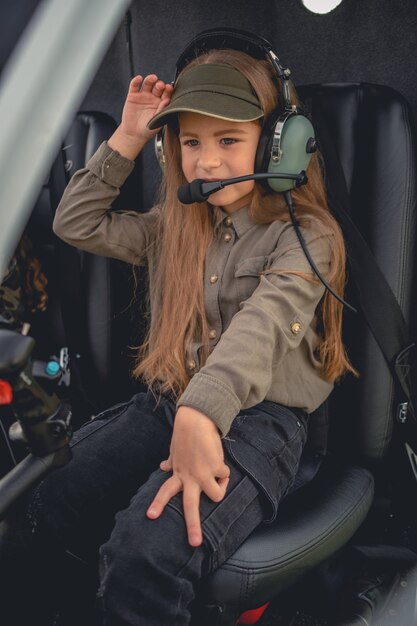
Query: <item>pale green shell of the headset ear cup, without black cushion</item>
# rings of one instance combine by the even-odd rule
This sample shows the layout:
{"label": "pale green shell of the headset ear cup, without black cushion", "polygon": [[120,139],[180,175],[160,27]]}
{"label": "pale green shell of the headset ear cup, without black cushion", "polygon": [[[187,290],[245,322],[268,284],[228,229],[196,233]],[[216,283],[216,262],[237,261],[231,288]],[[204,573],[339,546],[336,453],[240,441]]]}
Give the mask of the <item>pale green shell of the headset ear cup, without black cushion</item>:
{"label": "pale green shell of the headset ear cup, without black cushion", "polygon": [[[299,174],[307,169],[314,152],[314,128],[304,115],[292,115],[285,120],[281,134],[281,159],[270,158],[267,172],[274,174]],[[295,187],[295,181],[285,178],[268,178],[273,191],[284,192]]]}

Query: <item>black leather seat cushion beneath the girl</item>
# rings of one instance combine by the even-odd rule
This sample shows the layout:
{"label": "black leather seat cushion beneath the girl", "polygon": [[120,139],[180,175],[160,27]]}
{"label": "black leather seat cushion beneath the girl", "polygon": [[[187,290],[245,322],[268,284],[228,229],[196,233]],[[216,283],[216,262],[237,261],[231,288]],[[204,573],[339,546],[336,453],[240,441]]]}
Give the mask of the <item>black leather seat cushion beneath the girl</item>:
{"label": "black leather seat cushion beneath the girl", "polygon": [[283,502],[274,523],[259,527],[205,581],[202,601],[240,610],[267,602],[352,537],[373,493],[368,470],[324,463],[309,485]]}

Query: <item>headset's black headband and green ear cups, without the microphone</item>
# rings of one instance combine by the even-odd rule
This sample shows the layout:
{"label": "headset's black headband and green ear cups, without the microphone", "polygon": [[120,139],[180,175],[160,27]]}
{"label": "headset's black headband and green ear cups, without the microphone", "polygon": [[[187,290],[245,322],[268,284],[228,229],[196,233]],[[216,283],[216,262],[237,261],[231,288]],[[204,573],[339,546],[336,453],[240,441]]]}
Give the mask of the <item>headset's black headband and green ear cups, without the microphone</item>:
{"label": "headset's black headband and green ear cups, without the microphone", "polygon": [[[246,52],[254,59],[270,61],[281,83],[284,102],[264,120],[255,158],[255,173],[299,174],[305,171],[311,155],[317,149],[314,128],[297,105],[291,102],[291,71],[283,68],[271,44],[263,37],[234,28],[214,28],[201,32],[178,58],[172,83],[174,88],[179,74],[193,59],[210,50],[225,48]],[[163,167],[163,130],[156,136],[155,152]],[[275,192],[285,192],[293,189],[296,183],[291,179],[269,178],[266,184]]]}

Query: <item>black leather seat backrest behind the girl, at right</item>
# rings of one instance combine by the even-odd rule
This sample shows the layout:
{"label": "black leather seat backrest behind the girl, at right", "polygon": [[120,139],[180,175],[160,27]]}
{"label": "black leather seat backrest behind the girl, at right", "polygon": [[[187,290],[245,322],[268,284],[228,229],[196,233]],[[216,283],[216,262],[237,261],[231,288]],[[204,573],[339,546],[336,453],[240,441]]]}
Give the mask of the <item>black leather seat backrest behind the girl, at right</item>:
{"label": "black leather seat backrest behind the girl, at right", "polygon": [[[320,112],[328,124],[350,194],[351,217],[414,336],[417,169],[410,106],[401,94],[381,85],[308,85],[298,91],[313,122]],[[348,282],[347,299],[357,305],[350,287]],[[376,304],[384,314],[383,302]],[[386,332],[392,330],[387,326]],[[360,313],[345,312],[344,336],[360,377],[346,377],[331,396],[330,448],[362,460],[381,459],[396,413],[392,376]]]}

